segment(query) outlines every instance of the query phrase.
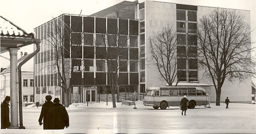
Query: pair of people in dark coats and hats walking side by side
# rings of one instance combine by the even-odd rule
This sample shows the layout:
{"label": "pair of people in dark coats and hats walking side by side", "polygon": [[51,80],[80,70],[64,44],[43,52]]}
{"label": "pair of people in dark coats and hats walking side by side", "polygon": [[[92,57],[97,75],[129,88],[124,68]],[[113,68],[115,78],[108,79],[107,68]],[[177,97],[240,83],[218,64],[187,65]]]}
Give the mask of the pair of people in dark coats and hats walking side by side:
{"label": "pair of people in dark coats and hats walking side by side", "polygon": [[38,119],[39,125],[43,124],[44,130],[68,128],[69,116],[65,106],[60,104],[59,98],[55,98],[53,102],[51,102],[51,99],[52,97],[50,95],[46,96],[46,102],[42,106]]}

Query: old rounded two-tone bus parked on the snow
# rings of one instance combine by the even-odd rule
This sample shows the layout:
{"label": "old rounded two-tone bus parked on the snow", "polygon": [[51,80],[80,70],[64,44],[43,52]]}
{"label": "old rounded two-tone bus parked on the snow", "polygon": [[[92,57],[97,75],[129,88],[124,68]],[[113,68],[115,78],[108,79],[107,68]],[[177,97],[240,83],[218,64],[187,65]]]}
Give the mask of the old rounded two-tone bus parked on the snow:
{"label": "old rounded two-tone bus parked on the snow", "polygon": [[168,106],[179,106],[184,95],[189,100],[188,108],[209,104],[209,94],[199,86],[148,87],[143,104],[154,109],[166,109]]}

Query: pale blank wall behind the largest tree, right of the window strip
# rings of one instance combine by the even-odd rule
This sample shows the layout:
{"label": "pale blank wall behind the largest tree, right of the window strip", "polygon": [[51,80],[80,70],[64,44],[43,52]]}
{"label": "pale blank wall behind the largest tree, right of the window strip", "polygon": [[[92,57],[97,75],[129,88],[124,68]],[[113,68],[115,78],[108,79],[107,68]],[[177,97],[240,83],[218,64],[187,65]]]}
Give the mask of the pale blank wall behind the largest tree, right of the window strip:
{"label": "pale blank wall behind the largest tree, right of the window strip", "polygon": [[[211,13],[216,7],[205,7],[197,6],[197,22],[200,23],[200,18],[203,15]],[[227,9],[232,10],[232,9]],[[250,11],[247,10],[237,10],[242,15],[244,15],[244,20],[250,25]],[[210,78],[203,76],[204,69],[199,69],[198,77],[200,83],[213,84]],[[204,87],[206,92],[210,93],[210,102],[216,102],[216,91],[214,87]],[[226,79],[224,85],[221,88],[221,102],[224,102],[226,98],[230,99],[230,102],[239,103],[251,103],[252,102],[252,80],[245,79],[244,82],[239,80],[232,80],[231,82]]]}

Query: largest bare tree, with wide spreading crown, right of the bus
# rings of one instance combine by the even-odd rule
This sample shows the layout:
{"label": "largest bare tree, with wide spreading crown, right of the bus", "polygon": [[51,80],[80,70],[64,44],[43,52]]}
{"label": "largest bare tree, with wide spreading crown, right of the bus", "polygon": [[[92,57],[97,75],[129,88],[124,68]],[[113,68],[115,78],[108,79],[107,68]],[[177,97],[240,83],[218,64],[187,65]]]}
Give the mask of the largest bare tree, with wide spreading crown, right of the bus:
{"label": "largest bare tree, with wide spreading crown, right of the bus", "polygon": [[225,80],[243,81],[255,74],[250,32],[244,16],[236,10],[216,9],[200,19],[198,61],[215,86],[216,106]]}

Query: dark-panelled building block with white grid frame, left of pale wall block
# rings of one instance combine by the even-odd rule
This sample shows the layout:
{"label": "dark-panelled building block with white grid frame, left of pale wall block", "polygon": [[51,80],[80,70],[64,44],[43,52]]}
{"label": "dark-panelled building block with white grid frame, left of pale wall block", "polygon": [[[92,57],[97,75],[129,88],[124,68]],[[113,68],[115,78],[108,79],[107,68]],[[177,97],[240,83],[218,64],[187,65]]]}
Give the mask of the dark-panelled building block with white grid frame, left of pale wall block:
{"label": "dark-panelled building block with white grid frame, left of pale wall block", "polygon": [[[77,55],[75,59],[70,58],[69,55],[63,57],[68,59],[68,62],[72,62],[70,59],[76,60],[75,64],[72,64],[74,73],[72,73],[70,79],[73,85],[71,91],[72,103],[83,102],[85,92],[82,91],[82,87],[94,87],[95,85],[98,88],[97,91],[91,90],[88,93],[91,98],[89,102],[97,102],[97,93],[111,93],[110,90],[107,90],[109,89],[107,65],[106,61],[102,60],[104,59],[102,53],[106,47],[104,43],[107,44],[108,52],[113,51],[114,47],[110,44],[110,36],[113,37],[116,32],[119,40],[124,39],[125,41],[125,43],[118,41],[118,45],[122,46],[118,49],[123,49],[122,57],[119,57],[120,64],[124,65],[118,71],[119,90],[123,92],[138,89],[138,20],[68,14],[60,15],[56,19],[63,20],[65,25],[72,29],[70,33],[63,32],[63,34],[64,38],[71,35],[73,40],[71,41],[70,55]],[[54,49],[46,41],[47,38],[50,38],[48,33],[53,28],[52,23],[56,23],[54,19],[34,29],[37,38],[40,38],[43,42],[41,43],[40,52],[35,56],[35,102],[40,103],[44,103],[47,94],[53,95],[54,98],[62,98],[62,103],[64,100],[64,92],[58,86],[60,79],[57,73],[50,71],[49,68],[49,65],[56,60],[50,54]],[[83,41],[79,41],[81,37]],[[103,38],[106,38],[107,41]],[[115,39],[113,42],[115,42]],[[67,46],[69,44],[69,39],[66,42],[64,41],[64,47],[69,49],[70,46]]]}

